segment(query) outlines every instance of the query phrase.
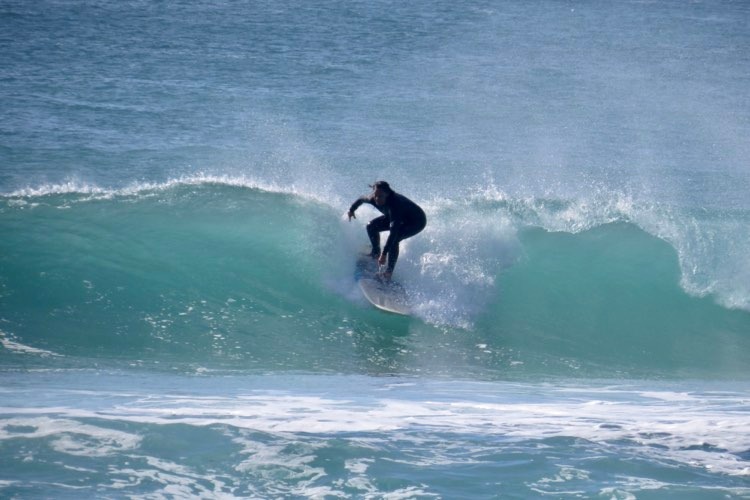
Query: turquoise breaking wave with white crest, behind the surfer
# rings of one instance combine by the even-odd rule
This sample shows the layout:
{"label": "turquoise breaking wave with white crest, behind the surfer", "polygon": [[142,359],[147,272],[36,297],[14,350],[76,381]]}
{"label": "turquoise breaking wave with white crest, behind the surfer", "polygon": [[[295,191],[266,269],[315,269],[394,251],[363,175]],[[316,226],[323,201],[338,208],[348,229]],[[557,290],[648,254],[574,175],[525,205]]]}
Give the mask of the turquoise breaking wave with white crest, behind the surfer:
{"label": "turquoise breaking wave with white crest, behind the surfer", "polygon": [[243,179],[6,195],[2,362],[480,378],[746,373],[748,297],[696,292],[687,245],[670,241],[674,219],[623,202],[584,209],[496,191],[420,202],[430,224],[404,243],[397,268],[416,313],[400,318],[368,307],[354,282],[364,208],[348,223],[340,207]]}

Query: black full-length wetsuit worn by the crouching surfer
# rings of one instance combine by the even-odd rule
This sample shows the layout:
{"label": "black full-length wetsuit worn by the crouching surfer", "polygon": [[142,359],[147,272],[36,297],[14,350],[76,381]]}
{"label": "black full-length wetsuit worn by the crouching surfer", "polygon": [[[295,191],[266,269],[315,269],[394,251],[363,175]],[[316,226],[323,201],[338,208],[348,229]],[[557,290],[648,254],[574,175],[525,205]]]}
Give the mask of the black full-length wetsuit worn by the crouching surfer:
{"label": "black full-length wetsuit worn by the crouching surfer", "polygon": [[380,254],[380,233],[390,231],[383,253],[388,256],[387,270],[392,273],[398,260],[398,243],[422,231],[427,225],[427,216],[419,205],[395,191],[391,191],[382,207],[376,205],[374,195],[369,194],[352,203],[349,212],[354,213],[362,203],[369,203],[383,214],[367,224],[367,235],[372,243],[372,255],[377,257]]}

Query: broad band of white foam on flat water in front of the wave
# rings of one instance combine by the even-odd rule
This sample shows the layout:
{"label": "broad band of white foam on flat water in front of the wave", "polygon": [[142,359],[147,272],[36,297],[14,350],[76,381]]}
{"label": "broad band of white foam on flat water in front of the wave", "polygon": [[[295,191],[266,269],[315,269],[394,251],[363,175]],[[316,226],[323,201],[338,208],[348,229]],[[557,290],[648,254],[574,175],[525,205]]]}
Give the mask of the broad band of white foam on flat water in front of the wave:
{"label": "broad band of white foam on flat water in front of the wave", "polygon": [[[550,441],[620,443],[629,454],[658,456],[711,474],[750,475],[739,458],[750,449],[745,432],[750,408],[743,403],[747,395],[742,389],[684,392],[669,384],[648,389],[637,383],[540,388],[437,381],[416,387],[408,379],[321,377],[307,379],[305,390],[289,390],[283,387],[294,384],[294,377],[230,377],[223,379],[221,394],[210,389],[213,382],[201,379],[191,381],[194,391],[174,394],[118,389],[123,375],[101,376],[110,388],[87,385],[84,406],[47,407],[41,401],[22,401],[28,387],[6,390],[0,413],[14,416],[3,420],[0,440],[18,438],[14,429],[24,428],[22,437],[27,440],[54,437],[60,453],[111,456],[141,447],[137,434],[108,429],[107,422],[127,422],[131,427],[224,426],[280,437],[371,436],[376,446],[376,436],[397,436],[402,447],[421,455],[425,450],[420,436],[425,434],[468,440],[495,436],[505,447],[526,446],[522,443],[544,436]],[[49,401],[64,401],[67,394],[80,391],[76,377],[63,375],[69,384],[65,388],[57,383],[38,389]],[[171,380],[176,382],[180,380]],[[350,389],[342,391],[342,382]],[[243,389],[258,384],[265,388]],[[334,391],[334,386],[339,388]],[[69,439],[71,432],[85,438]]]}

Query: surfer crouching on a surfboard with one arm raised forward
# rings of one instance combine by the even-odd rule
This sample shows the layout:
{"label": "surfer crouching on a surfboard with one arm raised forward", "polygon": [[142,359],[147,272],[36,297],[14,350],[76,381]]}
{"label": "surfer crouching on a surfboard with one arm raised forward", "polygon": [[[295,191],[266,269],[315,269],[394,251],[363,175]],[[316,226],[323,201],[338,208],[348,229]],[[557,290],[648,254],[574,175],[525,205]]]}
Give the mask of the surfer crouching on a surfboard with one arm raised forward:
{"label": "surfer crouching on a surfboard with one arm raised forward", "polygon": [[[383,273],[386,280],[391,279],[393,268],[396,267],[398,260],[398,244],[406,238],[411,238],[419,233],[427,225],[427,217],[419,205],[411,201],[406,196],[395,192],[385,181],[378,181],[372,186],[372,193],[366,194],[357,199],[349,207],[347,216],[351,221],[357,218],[354,212],[363,203],[369,203],[377,208],[383,215],[376,217],[367,224],[367,236],[372,243],[372,258],[378,260],[378,264],[387,267]],[[380,249],[380,233],[390,231],[388,240],[382,251]]]}

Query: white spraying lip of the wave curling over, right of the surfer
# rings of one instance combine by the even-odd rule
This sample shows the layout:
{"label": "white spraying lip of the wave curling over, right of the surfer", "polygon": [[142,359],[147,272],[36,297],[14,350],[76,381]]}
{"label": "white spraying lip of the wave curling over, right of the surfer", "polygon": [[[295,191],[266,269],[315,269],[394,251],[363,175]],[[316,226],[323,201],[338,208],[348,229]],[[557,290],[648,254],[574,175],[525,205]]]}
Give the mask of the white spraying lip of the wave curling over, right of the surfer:
{"label": "white spraying lip of the wave curling over, right of the surfer", "polygon": [[750,312],[750,212],[689,208],[644,201],[634,193],[591,186],[564,199],[511,196],[493,183],[473,190],[445,210],[500,216],[518,229],[578,234],[610,224],[634,225],[668,243],[679,264],[679,284],[691,296],[709,297],[728,309]]}

